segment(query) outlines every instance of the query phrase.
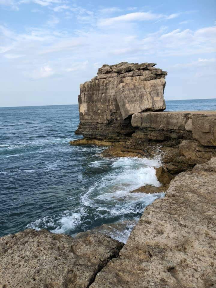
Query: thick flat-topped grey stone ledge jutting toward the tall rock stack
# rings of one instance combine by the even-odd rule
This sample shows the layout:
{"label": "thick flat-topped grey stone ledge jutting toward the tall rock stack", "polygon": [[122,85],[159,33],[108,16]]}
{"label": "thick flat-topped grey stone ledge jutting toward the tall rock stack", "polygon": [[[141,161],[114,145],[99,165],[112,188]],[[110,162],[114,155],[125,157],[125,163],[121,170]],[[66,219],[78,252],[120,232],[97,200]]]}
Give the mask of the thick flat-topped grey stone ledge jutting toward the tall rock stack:
{"label": "thick flat-topped grey stone ledge jutting toward the tall rock stack", "polygon": [[216,111],[135,113],[131,123],[146,139],[195,138],[202,145],[216,146]]}

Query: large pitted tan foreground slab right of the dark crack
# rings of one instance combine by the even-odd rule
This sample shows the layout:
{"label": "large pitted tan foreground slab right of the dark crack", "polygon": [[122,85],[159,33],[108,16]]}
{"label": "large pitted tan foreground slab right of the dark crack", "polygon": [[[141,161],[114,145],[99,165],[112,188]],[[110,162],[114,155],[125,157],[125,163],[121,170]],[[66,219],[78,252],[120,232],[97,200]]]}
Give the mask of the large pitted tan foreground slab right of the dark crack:
{"label": "large pitted tan foreground slab right of the dark crack", "polygon": [[91,288],[216,287],[216,158],[170,182]]}

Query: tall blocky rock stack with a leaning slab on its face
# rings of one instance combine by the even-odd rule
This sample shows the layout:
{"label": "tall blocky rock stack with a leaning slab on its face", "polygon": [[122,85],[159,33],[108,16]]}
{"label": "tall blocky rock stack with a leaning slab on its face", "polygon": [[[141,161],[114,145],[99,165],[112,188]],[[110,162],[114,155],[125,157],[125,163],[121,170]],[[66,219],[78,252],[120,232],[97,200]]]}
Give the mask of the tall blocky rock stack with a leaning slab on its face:
{"label": "tall blocky rock stack with a leaning slab on its face", "polygon": [[80,85],[76,134],[85,138],[122,139],[134,132],[131,116],[162,111],[165,76],[155,63],[103,65],[98,76]]}

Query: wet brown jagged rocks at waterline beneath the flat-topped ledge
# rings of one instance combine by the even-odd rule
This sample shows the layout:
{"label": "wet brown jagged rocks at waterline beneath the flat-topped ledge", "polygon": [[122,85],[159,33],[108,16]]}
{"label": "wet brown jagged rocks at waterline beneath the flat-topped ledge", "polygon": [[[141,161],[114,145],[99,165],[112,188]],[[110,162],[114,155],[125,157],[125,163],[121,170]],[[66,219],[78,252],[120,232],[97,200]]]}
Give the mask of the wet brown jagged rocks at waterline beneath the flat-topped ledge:
{"label": "wet brown jagged rocks at waterline beneath the flat-topped ledge", "polygon": [[[196,140],[170,137],[162,141],[157,138],[149,140],[143,131],[146,130],[137,130],[127,141],[114,143],[101,154],[105,157],[139,158],[154,158],[159,154],[164,167],[173,175],[191,170],[196,164],[202,164],[216,156],[214,146],[206,147]],[[160,131],[158,133],[160,135]]]}

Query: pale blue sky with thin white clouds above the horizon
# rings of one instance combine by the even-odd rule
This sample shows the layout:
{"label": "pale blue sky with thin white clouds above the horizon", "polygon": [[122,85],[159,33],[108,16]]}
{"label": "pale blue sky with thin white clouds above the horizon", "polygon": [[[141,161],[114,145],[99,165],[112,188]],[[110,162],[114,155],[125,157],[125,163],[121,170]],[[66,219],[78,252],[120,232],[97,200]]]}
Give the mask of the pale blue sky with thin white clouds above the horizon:
{"label": "pale blue sky with thin white clouds above the horizon", "polygon": [[166,70],[165,100],[216,98],[215,52],[215,0],[0,0],[0,107],[77,104],[123,61]]}

